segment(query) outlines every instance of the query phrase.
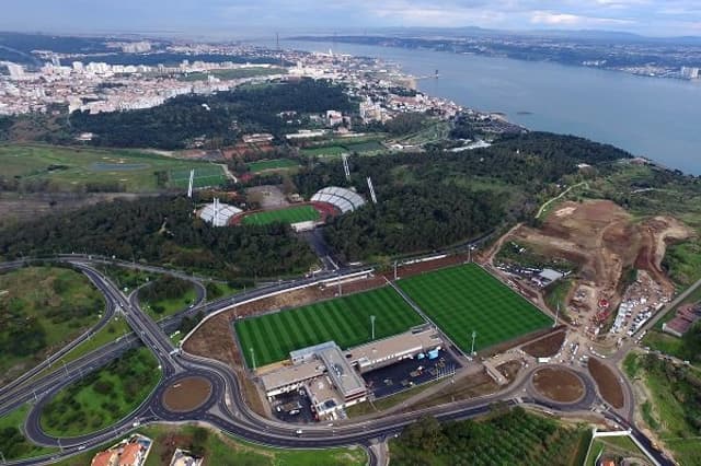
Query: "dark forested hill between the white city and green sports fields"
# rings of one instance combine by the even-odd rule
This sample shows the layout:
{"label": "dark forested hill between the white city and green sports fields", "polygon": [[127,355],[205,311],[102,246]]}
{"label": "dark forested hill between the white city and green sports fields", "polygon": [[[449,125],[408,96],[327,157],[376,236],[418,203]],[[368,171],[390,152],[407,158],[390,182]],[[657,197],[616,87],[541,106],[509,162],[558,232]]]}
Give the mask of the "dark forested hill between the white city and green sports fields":
{"label": "dark forested hill between the white city and green sports fields", "polygon": [[349,112],[355,107],[342,88],[302,79],[212,95],[181,95],[139,110],[97,115],[77,112],[70,123],[77,132],[95,133],[93,143],[99,145],[181,149],[199,137],[218,144],[233,143],[245,132],[266,131],[283,138],[298,125],[287,124],[278,116],[281,112]]}

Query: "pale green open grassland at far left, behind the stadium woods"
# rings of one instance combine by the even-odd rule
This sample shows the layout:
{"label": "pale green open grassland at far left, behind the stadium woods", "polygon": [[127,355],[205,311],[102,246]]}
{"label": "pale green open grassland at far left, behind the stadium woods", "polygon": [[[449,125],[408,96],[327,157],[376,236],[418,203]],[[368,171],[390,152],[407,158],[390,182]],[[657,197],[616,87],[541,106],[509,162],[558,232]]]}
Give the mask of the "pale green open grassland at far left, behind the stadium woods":
{"label": "pale green open grassland at far left, behind the stadium woods", "polygon": [[[87,186],[123,186],[129,193],[157,191],[156,172],[211,170],[206,162],[186,161],[135,150],[0,144],[2,175],[20,183],[48,182],[59,190]],[[221,168],[217,167],[221,173]],[[221,173],[223,176],[223,173]],[[187,179],[185,179],[187,186]]]}

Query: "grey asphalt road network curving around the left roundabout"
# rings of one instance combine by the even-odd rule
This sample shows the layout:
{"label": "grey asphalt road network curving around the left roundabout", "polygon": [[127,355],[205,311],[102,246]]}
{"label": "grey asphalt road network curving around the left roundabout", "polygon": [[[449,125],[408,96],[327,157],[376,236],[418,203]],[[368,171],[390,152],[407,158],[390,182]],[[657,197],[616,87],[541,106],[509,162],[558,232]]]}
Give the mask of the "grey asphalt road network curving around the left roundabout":
{"label": "grey asphalt road network curving around the left roundabout", "polygon": [[[74,257],[72,257],[72,259],[74,260]],[[299,429],[299,427],[297,426],[285,424],[279,421],[262,418],[251,411],[243,401],[237,378],[227,365],[217,361],[197,358],[185,353],[177,354],[177,351],[174,351],[175,348],[171,340],[161,328],[161,326],[168,327],[168,325],[170,325],[170,321],[163,321],[161,322],[161,326],[159,326],[148,315],[141,312],[138,306],[138,302],[125,296],[120,290],[118,290],[107,278],[103,277],[96,269],[88,266],[87,264],[82,264],[82,267],[83,272],[87,273],[93,283],[95,283],[95,286],[102,291],[106,301],[111,303],[110,305],[124,314],[126,321],[134,330],[134,336],[113,343],[113,346],[107,346],[94,351],[89,354],[91,358],[87,358],[85,361],[82,361],[82,359],[74,361],[76,364],[70,369],[67,369],[66,373],[59,374],[60,380],[53,378],[53,384],[49,384],[46,380],[48,377],[44,377],[38,381],[32,381],[22,386],[20,398],[23,398],[24,400],[36,398],[36,403],[32,406],[25,423],[26,436],[31,441],[41,445],[60,446],[62,448],[60,456],[77,454],[83,448],[96,446],[105,441],[123,435],[127,431],[131,430],[135,423],[142,424],[154,421],[204,421],[245,440],[280,447],[324,447],[361,444],[366,446],[366,450],[368,450],[367,446],[369,446],[371,442],[377,441],[378,439],[386,439],[400,432],[406,424],[413,422],[416,418],[423,415],[435,416],[441,421],[472,418],[489,412],[491,406],[495,401],[505,401],[508,405],[524,403],[554,411],[588,410],[591,408],[591,405],[599,403],[596,394],[591,395],[590,393],[588,393],[582,400],[571,406],[552,404],[533,397],[532,395],[526,395],[528,394],[527,384],[530,381],[530,376],[527,376],[506,391],[489,397],[440,405],[409,413],[390,415],[378,419],[363,421],[360,423],[345,421],[331,428],[325,424],[308,426],[302,429],[301,433],[298,433],[297,429]],[[334,273],[321,273],[321,278],[336,277],[337,273],[344,275],[349,271],[352,270],[341,269]],[[219,300],[214,303],[195,306],[186,313],[203,311],[205,314],[209,314],[243,300],[254,296],[264,296],[272,292],[311,283],[317,281],[319,278],[320,276],[315,278],[279,282],[262,290],[254,290],[243,296],[238,295]],[[182,315],[180,318],[182,318]],[[176,319],[173,318],[172,322],[176,322]],[[158,358],[163,374],[159,385],[141,404],[141,406],[117,424],[88,435],[70,439],[56,439],[43,432],[39,423],[43,406],[45,406],[45,404],[47,404],[61,388],[78,381],[82,374],[87,373],[87,371],[99,368],[117,356],[119,351],[124,351],[130,345],[134,345],[137,338],[151,349]],[[535,369],[536,368],[531,369],[531,371]],[[194,411],[187,413],[173,412],[162,403],[163,391],[175,383],[179,378],[186,375],[197,375],[208,380],[212,386],[211,397],[206,404]],[[48,389],[46,389],[47,387]],[[588,384],[587,387],[590,389]],[[41,394],[37,394],[37,389],[39,389]],[[16,401],[13,403],[5,398],[0,398],[0,412],[7,412],[9,409],[8,406],[10,405],[19,406],[16,405]],[[606,416],[622,426],[630,426],[624,419],[619,419],[616,413],[607,412]],[[634,428],[632,427],[632,429]],[[644,439],[642,433],[637,432],[637,434]],[[375,464],[377,462],[377,457],[375,457],[372,453],[368,454],[370,455],[370,464]],[[658,461],[660,464],[670,464],[669,462],[665,462],[662,456]],[[9,464],[32,465],[50,462],[51,458],[45,457],[10,462]]]}

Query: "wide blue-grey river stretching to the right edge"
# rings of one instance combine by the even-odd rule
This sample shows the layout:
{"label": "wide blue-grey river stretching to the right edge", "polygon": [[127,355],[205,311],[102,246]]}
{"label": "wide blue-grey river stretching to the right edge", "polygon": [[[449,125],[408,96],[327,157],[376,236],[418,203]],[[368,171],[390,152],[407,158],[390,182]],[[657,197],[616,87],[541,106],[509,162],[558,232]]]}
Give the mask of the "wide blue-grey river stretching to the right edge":
{"label": "wide blue-grey river stretching to the right edge", "polygon": [[[265,44],[274,46],[274,44]],[[284,42],[285,48],[378,57],[422,79],[420,90],[533,130],[608,142],[701,175],[701,81],[393,47]]]}

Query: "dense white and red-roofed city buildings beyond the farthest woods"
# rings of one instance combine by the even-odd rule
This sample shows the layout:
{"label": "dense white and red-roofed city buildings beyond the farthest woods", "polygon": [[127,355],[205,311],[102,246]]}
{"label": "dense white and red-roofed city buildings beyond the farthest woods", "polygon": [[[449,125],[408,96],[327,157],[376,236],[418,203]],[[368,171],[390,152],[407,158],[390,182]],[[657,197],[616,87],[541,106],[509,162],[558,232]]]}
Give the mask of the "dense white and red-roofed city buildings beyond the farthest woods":
{"label": "dense white and red-roofed city buildings beyond the farthest woods", "polygon": [[[148,42],[110,43],[124,53],[148,53]],[[170,46],[169,53],[202,56],[207,54],[231,55],[242,53],[239,48],[226,46]],[[413,88],[415,79],[402,74],[398,69],[388,68],[377,59],[350,57],[347,55],[309,54],[303,51],[245,50],[251,58],[280,60],[287,74],[276,74],[269,63],[234,63],[231,61],[208,62],[183,60],[177,66],[110,65],[92,61],[88,56],[70,56],[43,51],[44,66],[27,69],[22,65],[0,62],[0,115],[44,113],[53,105],[67,106],[69,112],[122,112],[150,108],[166,100],[183,94],[207,94],[228,91],[250,81],[311,78],[327,79],[347,86],[350,96],[360,101],[360,117],[365,123],[388,121],[401,113],[429,113],[450,118],[461,107],[453,102],[424,95],[421,92],[402,93],[400,90]],[[159,57],[159,53],[153,53]],[[142,55],[140,55],[142,56]],[[126,56],[125,56],[126,57]],[[223,70],[245,68],[269,68],[271,74],[226,79]],[[187,80],[191,73],[202,74],[198,80]],[[424,77],[423,79],[433,79]],[[399,94],[398,94],[399,92]],[[401,95],[400,95],[401,94]],[[325,115],[330,127],[349,121],[347,115],[330,109]]]}

